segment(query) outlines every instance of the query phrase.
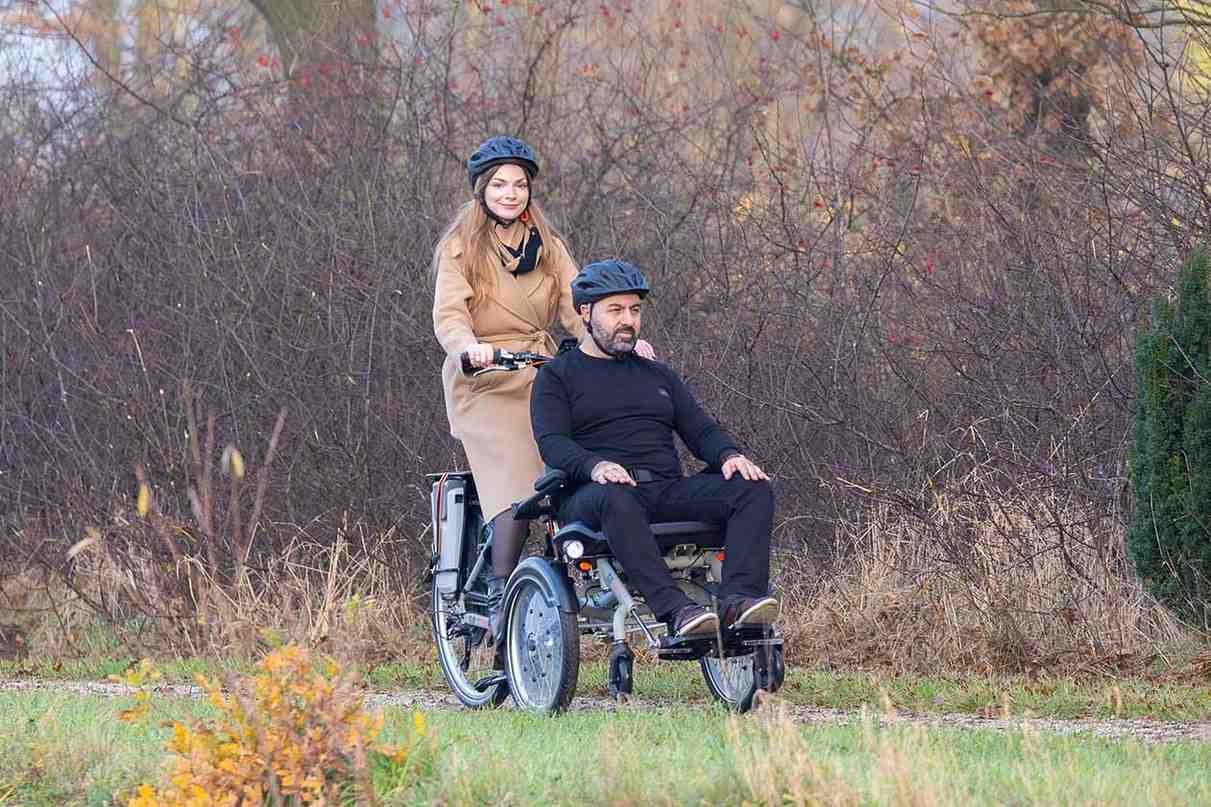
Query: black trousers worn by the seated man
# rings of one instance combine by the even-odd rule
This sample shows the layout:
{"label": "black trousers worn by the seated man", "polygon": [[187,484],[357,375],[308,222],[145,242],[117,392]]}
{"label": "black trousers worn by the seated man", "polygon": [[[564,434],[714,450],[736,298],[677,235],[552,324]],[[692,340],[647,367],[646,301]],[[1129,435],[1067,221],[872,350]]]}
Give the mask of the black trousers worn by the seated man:
{"label": "black trousers worn by the seated man", "polygon": [[774,521],[774,493],[769,482],[734,474],[698,474],[684,479],[630,485],[582,485],[564,503],[563,522],[582,521],[606,533],[610,551],[627,579],[639,590],[659,619],[670,619],[690,605],[673,582],[652,523],[711,521],[724,525],[723,582],[719,602],[769,594],[769,533]]}

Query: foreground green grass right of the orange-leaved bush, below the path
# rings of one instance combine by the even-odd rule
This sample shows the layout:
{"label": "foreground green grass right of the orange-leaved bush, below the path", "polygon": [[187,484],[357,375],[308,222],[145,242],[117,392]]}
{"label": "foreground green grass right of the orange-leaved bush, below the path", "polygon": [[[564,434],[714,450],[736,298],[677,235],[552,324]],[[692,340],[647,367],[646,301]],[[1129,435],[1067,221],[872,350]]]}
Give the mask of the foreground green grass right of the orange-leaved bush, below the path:
{"label": "foreground green grass right of the orange-leaved bush, below the path", "polygon": [[[435,716],[438,775],[404,803],[1205,802],[1211,746],[853,722],[718,709]],[[441,773],[446,771],[446,773]]]}

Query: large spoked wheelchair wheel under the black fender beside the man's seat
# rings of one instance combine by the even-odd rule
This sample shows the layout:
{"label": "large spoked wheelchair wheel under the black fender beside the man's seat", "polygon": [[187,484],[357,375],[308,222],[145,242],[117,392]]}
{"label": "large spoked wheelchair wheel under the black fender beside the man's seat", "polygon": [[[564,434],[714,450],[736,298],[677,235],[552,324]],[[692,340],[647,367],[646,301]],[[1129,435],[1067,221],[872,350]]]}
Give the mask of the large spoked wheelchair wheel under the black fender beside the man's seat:
{"label": "large spoked wheelchair wheel under the black fender beside the man's seat", "polygon": [[505,593],[505,669],[521,709],[555,714],[576,691],[580,631],[576,616],[559,607],[555,572],[532,561],[517,567]]}

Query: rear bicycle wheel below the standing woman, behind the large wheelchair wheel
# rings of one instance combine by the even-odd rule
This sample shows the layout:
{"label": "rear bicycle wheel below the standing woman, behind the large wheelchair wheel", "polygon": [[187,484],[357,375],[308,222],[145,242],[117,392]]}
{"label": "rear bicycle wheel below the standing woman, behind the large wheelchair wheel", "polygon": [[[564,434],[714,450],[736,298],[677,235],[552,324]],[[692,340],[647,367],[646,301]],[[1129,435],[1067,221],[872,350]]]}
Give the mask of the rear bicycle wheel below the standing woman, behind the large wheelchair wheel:
{"label": "rear bicycle wheel below the standing woman, behind the large wheelchair wheel", "polygon": [[509,697],[509,685],[493,669],[495,652],[483,628],[463,620],[464,597],[449,602],[434,586],[434,643],[450,691],[470,709],[499,706]]}

